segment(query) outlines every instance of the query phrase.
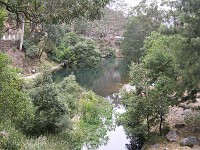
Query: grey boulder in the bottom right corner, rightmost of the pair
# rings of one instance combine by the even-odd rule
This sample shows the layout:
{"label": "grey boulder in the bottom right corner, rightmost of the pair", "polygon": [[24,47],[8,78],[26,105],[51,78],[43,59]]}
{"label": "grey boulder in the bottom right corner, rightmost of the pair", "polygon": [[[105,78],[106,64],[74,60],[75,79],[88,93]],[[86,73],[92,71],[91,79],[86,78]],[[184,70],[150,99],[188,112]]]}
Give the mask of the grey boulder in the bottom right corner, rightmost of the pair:
{"label": "grey boulder in the bottom right corner, rightmost of the pair", "polygon": [[180,140],[181,146],[189,146],[192,147],[194,145],[199,145],[199,139],[195,136],[189,136],[187,138],[183,138]]}

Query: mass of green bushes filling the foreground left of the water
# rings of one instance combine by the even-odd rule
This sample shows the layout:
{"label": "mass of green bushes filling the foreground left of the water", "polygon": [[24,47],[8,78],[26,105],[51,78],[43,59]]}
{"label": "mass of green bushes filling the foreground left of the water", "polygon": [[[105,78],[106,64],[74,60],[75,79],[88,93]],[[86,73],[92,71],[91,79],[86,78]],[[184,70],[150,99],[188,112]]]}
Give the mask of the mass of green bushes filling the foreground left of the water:
{"label": "mass of green bushes filling the foreground left of the water", "polygon": [[74,76],[53,83],[48,70],[32,84],[23,83],[15,68],[8,66],[8,58],[0,55],[2,81],[6,79],[6,84],[1,82],[1,148],[25,149],[35,143],[39,149],[48,149],[40,145],[44,144],[40,138],[53,149],[81,149],[83,144],[95,148],[106,142],[107,130],[112,127],[109,102],[85,91]]}

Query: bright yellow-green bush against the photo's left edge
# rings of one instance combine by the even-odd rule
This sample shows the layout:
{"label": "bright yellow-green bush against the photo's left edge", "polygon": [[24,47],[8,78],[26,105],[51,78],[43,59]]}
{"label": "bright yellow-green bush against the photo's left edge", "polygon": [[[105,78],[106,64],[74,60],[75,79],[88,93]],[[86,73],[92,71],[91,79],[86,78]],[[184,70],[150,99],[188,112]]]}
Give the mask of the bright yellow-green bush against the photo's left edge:
{"label": "bright yellow-green bush against the photo's left edge", "polygon": [[31,101],[22,90],[22,80],[16,68],[9,66],[8,57],[0,53],[0,114],[2,118],[19,121],[31,114]]}

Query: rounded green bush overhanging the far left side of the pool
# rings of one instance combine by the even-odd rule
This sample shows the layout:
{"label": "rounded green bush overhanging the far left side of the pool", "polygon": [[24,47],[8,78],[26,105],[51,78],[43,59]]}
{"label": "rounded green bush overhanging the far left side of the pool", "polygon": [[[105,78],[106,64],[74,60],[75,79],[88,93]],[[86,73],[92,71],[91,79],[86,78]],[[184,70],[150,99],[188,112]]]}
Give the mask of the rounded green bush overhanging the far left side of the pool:
{"label": "rounded green bush overhanging the far left side of the pool", "polygon": [[71,32],[64,37],[63,45],[58,47],[57,56],[71,68],[94,67],[100,60],[93,41],[84,40]]}

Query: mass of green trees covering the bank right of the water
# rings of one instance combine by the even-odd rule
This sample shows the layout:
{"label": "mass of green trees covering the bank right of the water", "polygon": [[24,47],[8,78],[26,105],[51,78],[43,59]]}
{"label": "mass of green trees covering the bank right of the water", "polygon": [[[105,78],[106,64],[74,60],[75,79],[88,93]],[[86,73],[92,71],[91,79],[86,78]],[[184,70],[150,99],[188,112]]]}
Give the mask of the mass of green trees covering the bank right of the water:
{"label": "mass of green trees covering the bank right of the water", "polygon": [[[124,32],[122,50],[124,57],[132,61],[130,78],[135,90],[122,92],[127,111],[119,123],[129,137],[149,139],[157,132],[156,126],[162,135],[169,106],[195,102],[200,92],[200,2],[162,4],[170,9],[158,11],[155,3],[142,1],[132,10]],[[192,119],[188,120],[196,124],[198,115]]]}

